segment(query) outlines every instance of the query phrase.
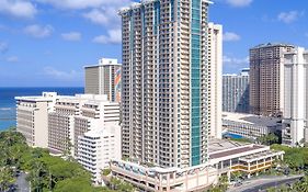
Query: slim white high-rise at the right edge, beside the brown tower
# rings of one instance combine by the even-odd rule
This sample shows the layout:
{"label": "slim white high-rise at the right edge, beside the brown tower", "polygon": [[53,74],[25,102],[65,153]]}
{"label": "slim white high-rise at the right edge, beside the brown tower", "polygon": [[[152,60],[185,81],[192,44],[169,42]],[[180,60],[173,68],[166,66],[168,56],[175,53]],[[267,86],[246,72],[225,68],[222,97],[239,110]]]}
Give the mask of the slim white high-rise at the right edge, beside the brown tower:
{"label": "slim white high-rise at the right edge, beside the brown tower", "polygon": [[285,54],[283,144],[308,140],[308,50],[298,47]]}

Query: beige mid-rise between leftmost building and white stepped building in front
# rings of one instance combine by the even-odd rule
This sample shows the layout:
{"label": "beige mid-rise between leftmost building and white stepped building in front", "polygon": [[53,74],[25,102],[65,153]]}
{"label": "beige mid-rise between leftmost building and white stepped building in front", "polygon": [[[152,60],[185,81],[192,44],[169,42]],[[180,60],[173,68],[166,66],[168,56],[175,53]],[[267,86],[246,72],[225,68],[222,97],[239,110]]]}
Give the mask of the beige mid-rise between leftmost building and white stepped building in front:
{"label": "beige mid-rise between leftmost building and white stepped building in front", "polygon": [[62,97],[48,114],[48,148],[54,153],[70,153],[75,157],[78,136],[91,129],[103,129],[105,124],[118,125],[119,105],[104,94]]}

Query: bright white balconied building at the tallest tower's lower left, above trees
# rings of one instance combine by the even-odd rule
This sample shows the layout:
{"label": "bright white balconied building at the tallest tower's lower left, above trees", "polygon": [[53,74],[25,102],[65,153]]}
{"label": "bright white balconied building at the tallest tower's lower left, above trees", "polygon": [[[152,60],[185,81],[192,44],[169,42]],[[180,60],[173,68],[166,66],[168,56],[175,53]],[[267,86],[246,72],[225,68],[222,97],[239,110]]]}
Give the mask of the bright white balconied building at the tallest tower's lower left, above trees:
{"label": "bright white balconied building at the tallest tower's lower left, above trees", "polygon": [[92,181],[101,182],[102,170],[110,161],[121,159],[121,127],[105,124],[78,136],[78,162],[92,173]]}

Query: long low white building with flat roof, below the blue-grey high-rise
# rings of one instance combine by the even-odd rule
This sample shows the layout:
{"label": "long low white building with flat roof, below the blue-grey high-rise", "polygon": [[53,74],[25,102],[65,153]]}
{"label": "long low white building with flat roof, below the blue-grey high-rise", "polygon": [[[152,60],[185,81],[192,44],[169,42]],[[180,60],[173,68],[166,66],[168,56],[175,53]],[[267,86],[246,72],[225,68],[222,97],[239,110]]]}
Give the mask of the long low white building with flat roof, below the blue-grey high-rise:
{"label": "long low white building with flat roof, below the blue-grey high-rise", "polygon": [[282,120],[243,113],[223,113],[224,132],[247,138],[258,138],[270,133],[281,135]]}

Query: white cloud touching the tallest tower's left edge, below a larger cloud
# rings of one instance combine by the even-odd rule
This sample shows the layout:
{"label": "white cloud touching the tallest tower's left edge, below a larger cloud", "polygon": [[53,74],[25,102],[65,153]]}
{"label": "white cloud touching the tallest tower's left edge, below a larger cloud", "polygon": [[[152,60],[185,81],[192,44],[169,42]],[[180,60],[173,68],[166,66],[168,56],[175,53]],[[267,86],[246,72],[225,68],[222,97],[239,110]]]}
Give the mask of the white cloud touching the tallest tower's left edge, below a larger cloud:
{"label": "white cloud touching the tallest tower's left edge, below a larger cloud", "polygon": [[122,42],[121,30],[110,30],[107,35],[100,35],[93,38],[94,43],[100,44],[119,44]]}

